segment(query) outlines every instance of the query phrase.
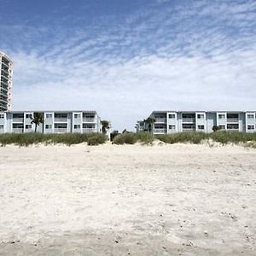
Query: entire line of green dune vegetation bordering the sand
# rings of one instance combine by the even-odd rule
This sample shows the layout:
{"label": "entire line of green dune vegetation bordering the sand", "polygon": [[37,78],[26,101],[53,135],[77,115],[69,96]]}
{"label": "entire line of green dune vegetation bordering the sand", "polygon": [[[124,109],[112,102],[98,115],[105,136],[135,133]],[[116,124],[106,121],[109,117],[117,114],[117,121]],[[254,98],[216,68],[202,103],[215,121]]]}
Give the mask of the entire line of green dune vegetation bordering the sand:
{"label": "entire line of green dune vegetation bordering the sand", "polygon": [[[195,143],[199,144],[202,141],[207,141],[209,146],[211,142],[217,142],[227,144],[243,144],[247,147],[256,148],[256,133],[245,132],[228,132],[217,131],[210,134],[203,132],[179,132],[174,134],[165,134],[154,136],[150,132],[129,132],[125,131],[121,134],[114,134],[112,137],[113,144],[152,144],[154,140],[158,139],[163,143]],[[44,144],[57,144],[64,143],[66,145],[88,143],[88,145],[99,145],[106,143],[108,137],[105,134],[100,133],[65,133],[65,134],[42,134],[42,133],[5,133],[0,135],[0,145],[5,146],[7,144],[16,144],[19,146],[28,146],[32,144],[44,143]]]}

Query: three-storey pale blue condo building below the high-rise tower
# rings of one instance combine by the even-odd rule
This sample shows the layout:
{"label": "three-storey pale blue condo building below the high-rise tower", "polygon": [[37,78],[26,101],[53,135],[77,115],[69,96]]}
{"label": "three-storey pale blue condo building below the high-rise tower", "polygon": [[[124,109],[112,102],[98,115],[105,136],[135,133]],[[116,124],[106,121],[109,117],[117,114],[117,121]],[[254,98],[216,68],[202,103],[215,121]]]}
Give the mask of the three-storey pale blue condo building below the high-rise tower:
{"label": "three-storey pale blue condo building below the high-rise tower", "polygon": [[45,134],[101,132],[101,119],[96,111],[9,111],[0,112],[0,134],[35,131],[31,124],[34,113],[42,114],[44,122],[37,131]]}

